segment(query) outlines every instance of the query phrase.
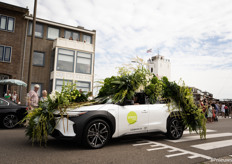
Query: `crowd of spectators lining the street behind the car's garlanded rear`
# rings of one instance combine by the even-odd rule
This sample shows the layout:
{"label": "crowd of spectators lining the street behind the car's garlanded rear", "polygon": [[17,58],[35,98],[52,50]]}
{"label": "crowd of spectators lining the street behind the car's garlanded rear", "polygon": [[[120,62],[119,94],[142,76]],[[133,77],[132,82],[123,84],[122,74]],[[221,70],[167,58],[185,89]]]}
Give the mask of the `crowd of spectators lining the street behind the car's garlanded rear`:
{"label": "crowd of spectators lining the street behind the car's garlanded rear", "polygon": [[218,121],[218,117],[232,118],[230,117],[232,115],[232,106],[230,103],[220,103],[203,99],[199,101],[198,105],[204,112],[209,123]]}

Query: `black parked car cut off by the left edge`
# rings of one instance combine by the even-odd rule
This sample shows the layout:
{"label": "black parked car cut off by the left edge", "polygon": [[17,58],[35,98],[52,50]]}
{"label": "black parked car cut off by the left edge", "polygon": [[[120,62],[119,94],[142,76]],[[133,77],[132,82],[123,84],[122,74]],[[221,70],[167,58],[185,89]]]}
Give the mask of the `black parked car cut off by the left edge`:
{"label": "black parked car cut off by the left edge", "polygon": [[27,114],[26,106],[18,105],[11,100],[0,98],[0,125],[11,129]]}

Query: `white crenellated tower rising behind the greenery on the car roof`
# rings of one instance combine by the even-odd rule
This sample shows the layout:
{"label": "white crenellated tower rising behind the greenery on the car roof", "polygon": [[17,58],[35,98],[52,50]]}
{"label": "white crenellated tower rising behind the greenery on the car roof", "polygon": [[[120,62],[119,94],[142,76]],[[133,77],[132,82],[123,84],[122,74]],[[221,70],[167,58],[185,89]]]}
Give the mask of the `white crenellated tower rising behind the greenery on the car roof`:
{"label": "white crenellated tower rising behind the greenery on the car roof", "polygon": [[147,69],[155,74],[159,79],[166,76],[171,80],[171,63],[161,55],[153,56],[147,61]]}

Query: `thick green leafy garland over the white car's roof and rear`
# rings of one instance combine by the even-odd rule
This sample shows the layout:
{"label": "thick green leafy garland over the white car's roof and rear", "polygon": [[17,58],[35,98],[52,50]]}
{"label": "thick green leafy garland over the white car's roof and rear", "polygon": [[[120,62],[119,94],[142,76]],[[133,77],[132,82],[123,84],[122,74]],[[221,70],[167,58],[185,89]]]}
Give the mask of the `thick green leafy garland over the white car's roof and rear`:
{"label": "thick green leafy garland over the white car's roof and rear", "polygon": [[123,103],[127,99],[133,100],[135,92],[144,89],[151,104],[168,102],[169,111],[178,110],[179,117],[190,132],[196,131],[200,138],[206,138],[206,119],[202,109],[195,105],[191,89],[183,82],[181,85],[170,82],[167,77],[159,80],[146,71],[141,60],[137,60],[137,63],[137,68],[121,67],[119,76],[106,78],[98,98],[107,97],[112,98],[114,103]]}

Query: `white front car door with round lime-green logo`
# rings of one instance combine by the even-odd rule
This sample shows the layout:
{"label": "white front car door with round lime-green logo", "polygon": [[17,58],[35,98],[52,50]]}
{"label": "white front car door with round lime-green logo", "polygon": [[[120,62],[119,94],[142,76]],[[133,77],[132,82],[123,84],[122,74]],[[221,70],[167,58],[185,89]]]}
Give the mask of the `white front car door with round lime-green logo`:
{"label": "white front car door with round lime-green logo", "polygon": [[148,129],[148,105],[119,106],[119,136],[146,133]]}

